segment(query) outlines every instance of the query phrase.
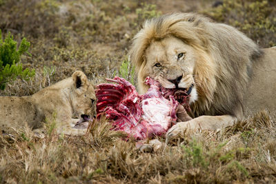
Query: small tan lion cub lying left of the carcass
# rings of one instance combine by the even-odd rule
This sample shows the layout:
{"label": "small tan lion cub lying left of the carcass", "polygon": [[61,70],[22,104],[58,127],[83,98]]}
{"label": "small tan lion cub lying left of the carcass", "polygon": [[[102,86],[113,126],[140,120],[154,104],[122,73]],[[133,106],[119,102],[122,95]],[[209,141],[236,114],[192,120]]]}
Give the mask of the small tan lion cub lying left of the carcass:
{"label": "small tan lion cub lying left of the carcass", "polygon": [[0,96],[0,129],[22,128],[27,123],[39,130],[43,122],[56,122],[59,134],[84,134],[86,130],[72,128],[76,119],[87,120],[95,101],[92,83],[81,71],[72,77],[50,85],[32,96]]}

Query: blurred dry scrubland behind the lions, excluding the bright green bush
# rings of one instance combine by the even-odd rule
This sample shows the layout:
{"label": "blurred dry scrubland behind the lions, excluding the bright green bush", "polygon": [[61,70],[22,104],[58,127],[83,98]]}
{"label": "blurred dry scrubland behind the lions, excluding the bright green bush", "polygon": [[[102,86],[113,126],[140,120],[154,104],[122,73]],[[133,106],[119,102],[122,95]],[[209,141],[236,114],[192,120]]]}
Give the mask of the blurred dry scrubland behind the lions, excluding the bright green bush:
{"label": "blurred dry scrubland behind the lions, excluding the bright green bush", "polygon": [[0,0],[2,37],[30,41],[32,56],[23,68],[31,81],[18,79],[1,95],[28,95],[82,70],[95,83],[120,74],[132,37],[145,19],[170,12],[200,12],[235,26],[261,47],[276,45],[275,0]]}

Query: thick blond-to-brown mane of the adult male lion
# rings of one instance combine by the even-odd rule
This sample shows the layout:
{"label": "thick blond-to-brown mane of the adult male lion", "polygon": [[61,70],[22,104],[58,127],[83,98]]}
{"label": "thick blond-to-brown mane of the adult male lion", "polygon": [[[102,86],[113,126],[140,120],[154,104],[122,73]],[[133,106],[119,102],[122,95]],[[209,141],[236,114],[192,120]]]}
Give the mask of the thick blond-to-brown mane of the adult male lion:
{"label": "thick blond-to-brown mane of the adult male lion", "polygon": [[146,51],[152,43],[168,37],[181,39],[197,54],[193,75],[198,99],[191,104],[193,115],[241,117],[253,65],[263,61],[266,53],[242,32],[199,14],[175,13],[150,19],[136,34],[130,50],[140,93],[147,90],[144,79],[151,70],[146,65]]}

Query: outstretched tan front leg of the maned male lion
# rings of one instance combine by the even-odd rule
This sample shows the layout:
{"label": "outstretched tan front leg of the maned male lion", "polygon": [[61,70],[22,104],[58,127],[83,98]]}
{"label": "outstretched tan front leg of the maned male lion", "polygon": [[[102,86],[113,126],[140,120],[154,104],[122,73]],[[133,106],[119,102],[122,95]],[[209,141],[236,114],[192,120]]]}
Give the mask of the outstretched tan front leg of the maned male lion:
{"label": "outstretched tan front leg of the maned male lion", "polygon": [[180,122],[173,125],[166,133],[166,139],[175,139],[179,135],[198,130],[217,130],[229,125],[233,125],[237,120],[234,116],[199,116],[190,121]]}

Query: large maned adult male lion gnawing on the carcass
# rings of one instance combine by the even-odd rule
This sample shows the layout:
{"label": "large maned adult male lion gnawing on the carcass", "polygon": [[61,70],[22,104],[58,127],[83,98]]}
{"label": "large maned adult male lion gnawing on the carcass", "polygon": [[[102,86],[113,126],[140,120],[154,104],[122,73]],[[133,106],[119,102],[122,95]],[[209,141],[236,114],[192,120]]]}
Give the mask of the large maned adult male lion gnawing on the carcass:
{"label": "large maned adult male lion gnawing on the carcass", "polygon": [[189,89],[188,114],[194,119],[172,126],[168,139],[233,125],[262,108],[276,110],[276,48],[260,49],[237,29],[202,15],[175,13],[146,21],[130,58],[139,93],[148,89],[146,76],[164,88]]}

